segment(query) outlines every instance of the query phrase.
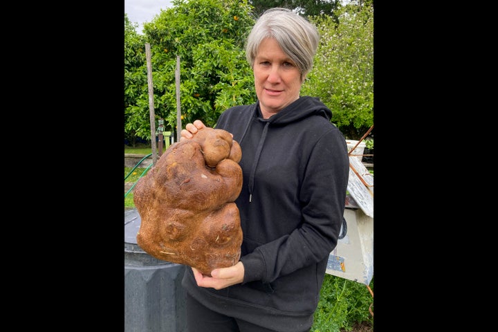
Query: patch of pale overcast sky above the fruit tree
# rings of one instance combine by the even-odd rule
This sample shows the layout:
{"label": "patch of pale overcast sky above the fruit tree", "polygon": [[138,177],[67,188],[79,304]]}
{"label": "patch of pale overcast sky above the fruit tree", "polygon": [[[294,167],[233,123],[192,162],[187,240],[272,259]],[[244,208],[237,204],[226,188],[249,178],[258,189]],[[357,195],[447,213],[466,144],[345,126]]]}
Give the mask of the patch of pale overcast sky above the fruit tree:
{"label": "patch of pale overcast sky above the fruit tree", "polygon": [[149,23],[160,10],[173,6],[171,0],[124,0],[124,12],[131,23],[138,23],[137,33],[142,34],[144,22]]}

